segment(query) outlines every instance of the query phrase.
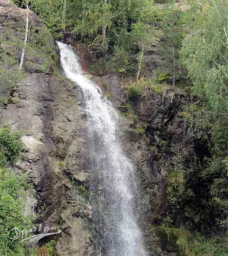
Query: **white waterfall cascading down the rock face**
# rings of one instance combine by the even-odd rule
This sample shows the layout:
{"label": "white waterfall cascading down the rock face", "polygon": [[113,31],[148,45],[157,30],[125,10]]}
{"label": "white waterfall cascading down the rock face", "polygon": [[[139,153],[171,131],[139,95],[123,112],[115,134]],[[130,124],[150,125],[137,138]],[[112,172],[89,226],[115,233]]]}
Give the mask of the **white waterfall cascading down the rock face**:
{"label": "white waterfall cascading down the rock face", "polygon": [[100,88],[82,75],[71,46],[58,45],[65,75],[81,86],[85,98],[95,250],[107,256],[146,256],[135,214],[135,167],[121,149],[117,112]]}

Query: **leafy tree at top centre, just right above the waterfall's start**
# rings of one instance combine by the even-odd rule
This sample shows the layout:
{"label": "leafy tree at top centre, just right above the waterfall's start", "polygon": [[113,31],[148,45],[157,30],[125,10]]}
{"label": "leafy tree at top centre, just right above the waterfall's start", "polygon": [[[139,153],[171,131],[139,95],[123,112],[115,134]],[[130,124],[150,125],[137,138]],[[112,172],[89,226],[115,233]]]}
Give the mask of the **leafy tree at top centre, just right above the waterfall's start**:
{"label": "leafy tree at top centre, just right above the waterfall's start", "polygon": [[128,18],[136,15],[144,1],[82,0],[82,14],[74,32],[89,37],[92,44],[105,53],[111,38],[118,36]]}

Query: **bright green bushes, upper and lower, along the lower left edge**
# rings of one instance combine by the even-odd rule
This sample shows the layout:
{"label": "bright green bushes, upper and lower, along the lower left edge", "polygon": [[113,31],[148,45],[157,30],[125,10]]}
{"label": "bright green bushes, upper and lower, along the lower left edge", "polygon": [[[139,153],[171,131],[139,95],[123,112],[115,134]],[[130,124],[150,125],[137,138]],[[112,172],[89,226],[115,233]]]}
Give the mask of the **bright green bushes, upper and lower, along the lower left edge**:
{"label": "bright green bushes, upper and lower, along the lower left edge", "polygon": [[24,255],[20,241],[11,243],[9,237],[16,236],[14,228],[28,229],[32,223],[23,211],[29,188],[28,177],[6,167],[6,162],[14,164],[21,157],[21,135],[21,131],[13,133],[8,124],[0,126],[0,253],[6,256]]}

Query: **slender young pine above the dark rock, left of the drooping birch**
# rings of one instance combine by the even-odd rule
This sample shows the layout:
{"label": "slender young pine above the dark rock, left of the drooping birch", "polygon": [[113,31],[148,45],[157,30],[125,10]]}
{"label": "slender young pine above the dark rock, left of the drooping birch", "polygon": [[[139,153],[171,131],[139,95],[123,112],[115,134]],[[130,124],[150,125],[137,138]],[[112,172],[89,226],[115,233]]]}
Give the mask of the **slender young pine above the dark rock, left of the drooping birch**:
{"label": "slender young pine above the dark rock, left of the drooping birch", "polygon": [[[154,34],[160,39],[158,54],[165,59],[165,63],[160,70],[164,74],[162,78],[167,79],[167,73],[173,77],[173,85],[175,81],[180,79],[183,73],[180,73],[180,46],[184,38],[184,14],[181,10],[180,3],[169,0],[160,8],[154,6]],[[166,74],[166,75],[165,75]],[[158,79],[159,79],[158,78]],[[161,81],[161,80],[160,80]]]}

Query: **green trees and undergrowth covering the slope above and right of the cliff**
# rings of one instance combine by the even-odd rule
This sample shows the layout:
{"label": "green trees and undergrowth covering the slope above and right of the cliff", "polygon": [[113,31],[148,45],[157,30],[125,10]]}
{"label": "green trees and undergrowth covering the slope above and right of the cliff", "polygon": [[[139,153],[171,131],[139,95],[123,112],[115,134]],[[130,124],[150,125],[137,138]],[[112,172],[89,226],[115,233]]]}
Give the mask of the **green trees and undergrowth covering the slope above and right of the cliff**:
{"label": "green trees and undergrowth covering the slope above and right of the cliff", "polygon": [[[23,7],[23,1],[14,2]],[[161,83],[184,85],[190,91],[183,119],[204,144],[205,152],[187,168],[181,155],[174,158],[167,182],[170,209],[161,216],[160,229],[185,255],[227,255],[228,3],[176,2],[67,0],[64,14],[62,0],[36,0],[32,8],[55,38],[66,35],[65,26],[73,30],[78,42],[86,45],[90,72],[130,77],[133,82],[127,91],[131,100],[149,90],[162,94]],[[36,37],[35,30],[31,31],[31,47],[38,42],[32,41]],[[152,44],[164,60],[154,80],[144,64]],[[45,42],[37,47],[44,55],[51,54]],[[6,93],[21,73],[14,63],[17,60],[1,52],[0,90]],[[128,105],[129,111],[138,122]]]}

